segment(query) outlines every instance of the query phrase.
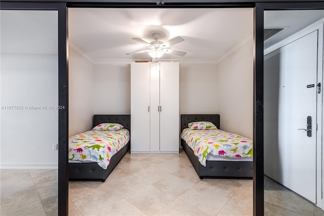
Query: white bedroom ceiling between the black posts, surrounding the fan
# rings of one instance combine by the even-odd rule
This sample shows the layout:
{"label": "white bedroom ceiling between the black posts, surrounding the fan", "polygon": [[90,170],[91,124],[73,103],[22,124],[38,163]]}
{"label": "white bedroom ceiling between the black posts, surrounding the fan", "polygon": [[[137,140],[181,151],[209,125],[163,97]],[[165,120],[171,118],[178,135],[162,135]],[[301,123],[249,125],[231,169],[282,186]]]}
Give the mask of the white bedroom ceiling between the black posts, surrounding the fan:
{"label": "white bedroom ceiling between the black posts, surrounding the fan", "polygon": [[165,54],[160,60],[217,62],[242,40],[252,38],[253,9],[69,9],[69,41],[95,61],[151,60],[132,39],[147,42],[161,33],[161,41],[181,36],[171,49],[184,57]]}

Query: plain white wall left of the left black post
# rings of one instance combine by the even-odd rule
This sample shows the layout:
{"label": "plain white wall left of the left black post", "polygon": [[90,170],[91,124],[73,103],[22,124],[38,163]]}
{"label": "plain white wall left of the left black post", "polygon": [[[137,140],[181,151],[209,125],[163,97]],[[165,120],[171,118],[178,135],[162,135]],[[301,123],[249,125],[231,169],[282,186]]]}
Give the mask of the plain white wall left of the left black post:
{"label": "plain white wall left of the left black post", "polygon": [[29,107],[58,105],[57,59],[1,55],[1,168],[57,168],[58,110]]}

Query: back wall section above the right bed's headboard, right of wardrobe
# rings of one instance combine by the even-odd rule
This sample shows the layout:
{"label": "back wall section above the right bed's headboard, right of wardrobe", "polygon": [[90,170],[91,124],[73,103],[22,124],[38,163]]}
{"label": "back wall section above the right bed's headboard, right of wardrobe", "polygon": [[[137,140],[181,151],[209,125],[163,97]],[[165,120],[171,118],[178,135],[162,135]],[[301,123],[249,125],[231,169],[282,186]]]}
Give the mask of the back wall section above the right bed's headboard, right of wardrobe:
{"label": "back wall section above the right bed's headboard, right of wardrobe", "polygon": [[180,64],[180,114],[217,113],[217,65]]}

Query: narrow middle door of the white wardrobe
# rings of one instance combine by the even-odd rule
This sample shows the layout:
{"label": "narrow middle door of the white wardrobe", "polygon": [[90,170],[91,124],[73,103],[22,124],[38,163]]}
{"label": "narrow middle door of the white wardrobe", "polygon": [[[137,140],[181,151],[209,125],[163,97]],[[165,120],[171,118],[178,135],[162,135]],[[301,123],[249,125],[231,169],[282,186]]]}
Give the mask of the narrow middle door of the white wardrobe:
{"label": "narrow middle door of the white wardrobe", "polygon": [[151,152],[160,151],[160,74],[158,62],[151,63],[151,83],[150,83],[150,147]]}

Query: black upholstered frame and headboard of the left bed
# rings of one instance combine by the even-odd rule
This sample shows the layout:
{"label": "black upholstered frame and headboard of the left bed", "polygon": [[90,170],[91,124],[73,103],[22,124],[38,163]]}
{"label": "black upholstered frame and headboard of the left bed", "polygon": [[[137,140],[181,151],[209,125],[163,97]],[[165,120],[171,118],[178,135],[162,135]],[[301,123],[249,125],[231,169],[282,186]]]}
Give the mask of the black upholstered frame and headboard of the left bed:
{"label": "black upholstered frame and headboard of the left bed", "polygon": [[[93,126],[100,123],[120,123],[131,132],[131,115],[94,115]],[[102,181],[104,182],[110,172],[115,168],[121,158],[128,152],[131,141],[120,149],[110,159],[107,169],[103,169],[96,162],[69,163],[69,181]]]}

